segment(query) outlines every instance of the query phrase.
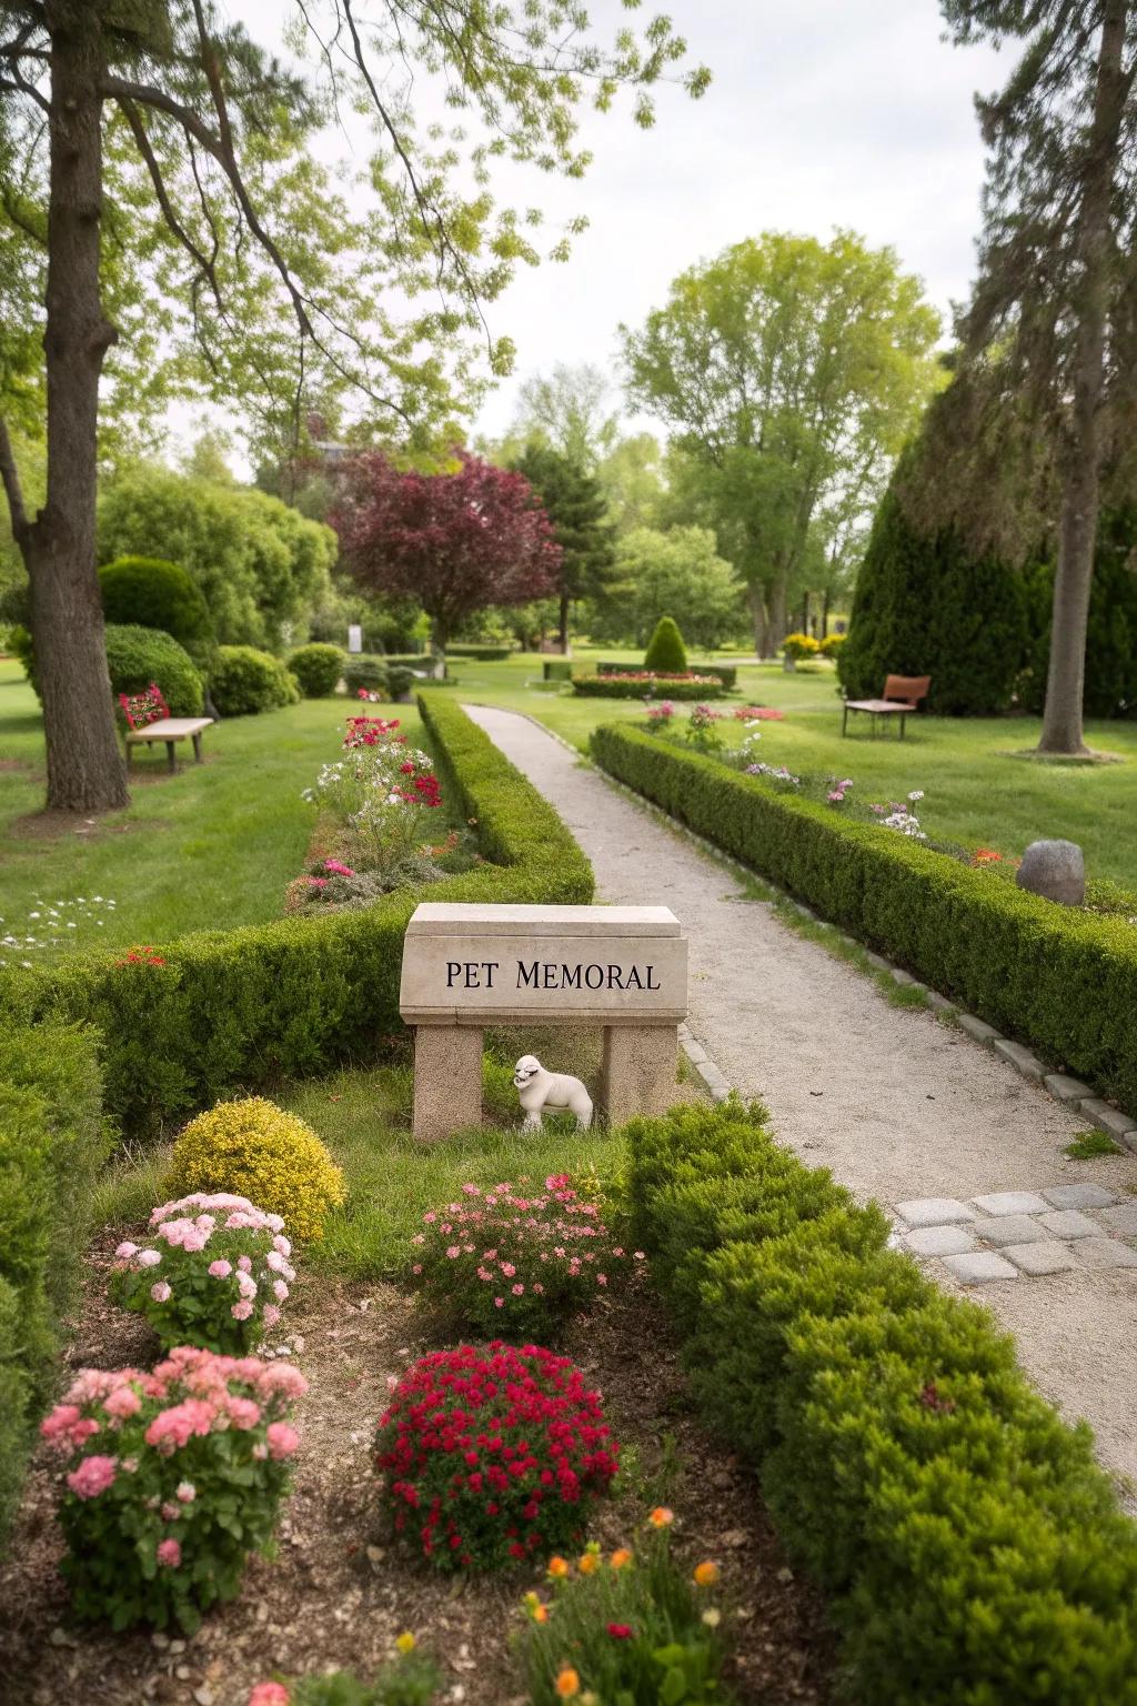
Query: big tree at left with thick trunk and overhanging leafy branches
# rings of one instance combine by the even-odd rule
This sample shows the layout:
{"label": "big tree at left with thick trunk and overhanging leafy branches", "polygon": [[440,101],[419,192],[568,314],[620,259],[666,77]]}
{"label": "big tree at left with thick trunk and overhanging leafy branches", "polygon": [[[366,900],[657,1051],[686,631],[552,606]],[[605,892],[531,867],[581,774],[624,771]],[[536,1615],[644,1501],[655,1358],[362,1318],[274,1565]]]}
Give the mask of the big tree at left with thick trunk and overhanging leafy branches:
{"label": "big tree at left with thick trunk and overhanging leafy branches", "polygon": [[[592,96],[603,109],[632,84],[636,119],[649,125],[648,89],[685,53],[665,19],[639,38],[619,31],[605,51],[571,0],[517,12],[482,0],[305,0],[295,43],[312,60],[298,73],[223,10],[218,0],[0,7],[0,237],[17,280],[0,293],[44,302],[46,502],[29,512],[12,452],[29,339],[7,333],[0,481],[31,578],[55,807],[126,800],[95,580],[99,380],[123,331],[153,345],[165,314],[193,341],[211,394],[268,399],[266,440],[303,418],[312,382],[332,380],[368,399],[377,432],[426,433],[450,415],[448,370],[470,374],[484,304],[520,261],[539,259],[535,215],[494,208],[491,162],[578,176],[581,104]],[[416,77],[465,109],[464,131],[416,133]],[[707,78],[684,80],[701,94]],[[365,181],[365,212],[310,147],[336,111],[373,121],[351,186]],[[126,316],[113,261],[131,287],[118,293]],[[484,365],[508,370],[508,341],[486,341]]]}

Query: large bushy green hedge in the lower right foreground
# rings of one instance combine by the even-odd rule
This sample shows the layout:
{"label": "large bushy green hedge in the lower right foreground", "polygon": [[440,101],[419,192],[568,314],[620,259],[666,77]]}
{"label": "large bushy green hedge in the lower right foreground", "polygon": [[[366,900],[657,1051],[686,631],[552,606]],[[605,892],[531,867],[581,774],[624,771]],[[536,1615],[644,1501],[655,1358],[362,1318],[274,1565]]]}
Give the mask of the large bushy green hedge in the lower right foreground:
{"label": "large bushy green hedge in the lower right foreground", "polygon": [[1137,1527],[1014,1341],[759,1109],[632,1121],[636,1242],[864,1706],[1137,1701]]}

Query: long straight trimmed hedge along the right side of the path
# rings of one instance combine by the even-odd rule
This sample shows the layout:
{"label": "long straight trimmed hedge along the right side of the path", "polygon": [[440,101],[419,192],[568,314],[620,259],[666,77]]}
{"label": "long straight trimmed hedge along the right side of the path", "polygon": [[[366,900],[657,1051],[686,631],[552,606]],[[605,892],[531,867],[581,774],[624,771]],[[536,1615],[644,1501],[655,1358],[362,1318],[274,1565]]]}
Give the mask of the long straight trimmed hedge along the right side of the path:
{"label": "long straight trimmed hedge along the right side of the path", "polygon": [[1137,1107],[1137,931],[1123,918],[1055,906],[638,728],[593,730],[592,754],[934,989]]}

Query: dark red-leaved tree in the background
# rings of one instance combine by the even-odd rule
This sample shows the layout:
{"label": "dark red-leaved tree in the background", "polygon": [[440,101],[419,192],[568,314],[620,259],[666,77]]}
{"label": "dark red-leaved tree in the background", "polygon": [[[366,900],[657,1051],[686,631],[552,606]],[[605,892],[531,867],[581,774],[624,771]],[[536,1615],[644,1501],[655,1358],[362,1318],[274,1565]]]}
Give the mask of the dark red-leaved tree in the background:
{"label": "dark red-leaved tree in the background", "polygon": [[561,563],[525,476],[453,454],[453,474],[402,474],[380,452],[355,457],[331,517],[360,585],[418,599],[440,652],[476,611],[547,597]]}

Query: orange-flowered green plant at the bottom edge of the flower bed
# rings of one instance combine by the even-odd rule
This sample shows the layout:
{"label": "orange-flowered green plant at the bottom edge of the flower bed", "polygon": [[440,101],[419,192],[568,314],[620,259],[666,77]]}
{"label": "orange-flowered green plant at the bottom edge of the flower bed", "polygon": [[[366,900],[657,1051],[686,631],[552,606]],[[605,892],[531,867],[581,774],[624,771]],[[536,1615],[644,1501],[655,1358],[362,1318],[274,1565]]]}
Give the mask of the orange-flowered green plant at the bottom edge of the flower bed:
{"label": "orange-flowered green plant at the bottom edge of the flower bed", "polygon": [[[670,1510],[658,1506],[634,1546],[549,1561],[549,1592],[527,1593],[518,1657],[534,1706],[592,1697],[626,1706],[723,1699],[724,1614],[718,1566],[672,1556]],[[574,1684],[574,1686],[573,1686]]]}

